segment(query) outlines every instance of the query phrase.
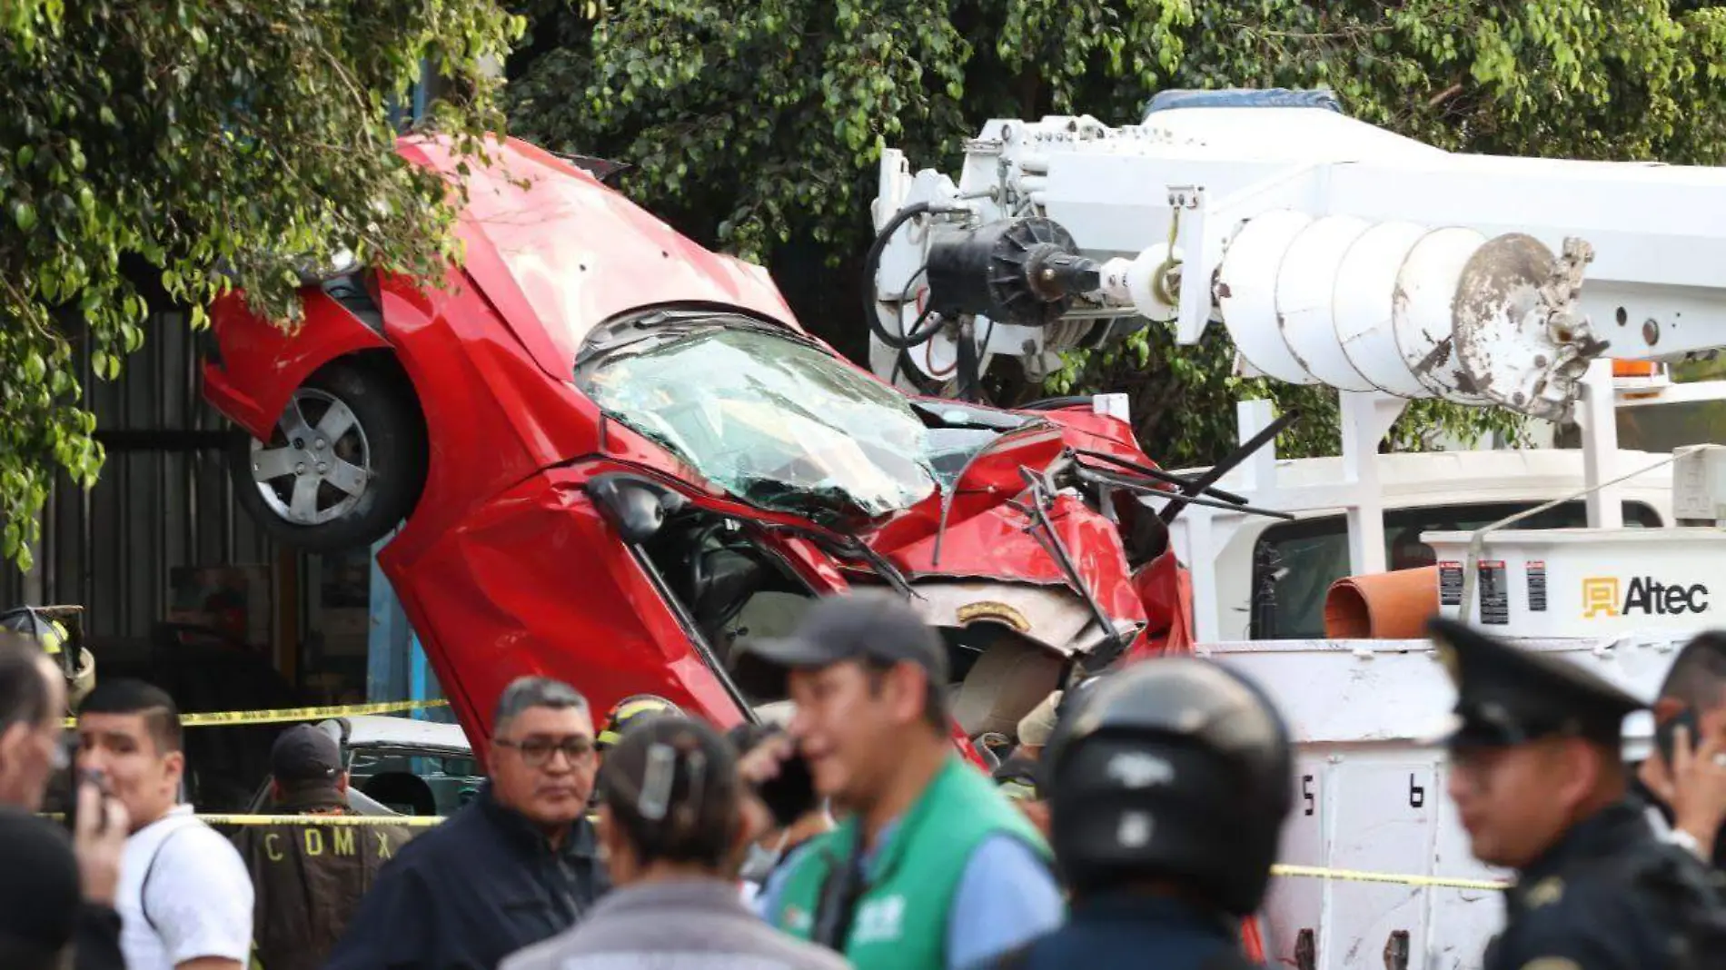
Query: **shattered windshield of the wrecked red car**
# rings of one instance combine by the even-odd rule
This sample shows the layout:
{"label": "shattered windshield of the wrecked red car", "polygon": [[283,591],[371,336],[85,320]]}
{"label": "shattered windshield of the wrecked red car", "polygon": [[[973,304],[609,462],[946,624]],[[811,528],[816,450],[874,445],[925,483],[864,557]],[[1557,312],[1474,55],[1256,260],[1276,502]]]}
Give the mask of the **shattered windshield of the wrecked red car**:
{"label": "shattered windshield of the wrecked red car", "polygon": [[658,328],[580,364],[576,383],[618,421],[765,507],[873,518],[937,487],[944,456],[908,399],[765,326]]}

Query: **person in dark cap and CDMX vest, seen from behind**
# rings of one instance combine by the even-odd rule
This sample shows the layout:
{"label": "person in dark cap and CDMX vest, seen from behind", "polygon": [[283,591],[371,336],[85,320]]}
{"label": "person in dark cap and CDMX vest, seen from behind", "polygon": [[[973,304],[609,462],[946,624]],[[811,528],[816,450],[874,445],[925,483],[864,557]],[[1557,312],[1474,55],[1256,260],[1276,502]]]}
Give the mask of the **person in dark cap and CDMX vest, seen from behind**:
{"label": "person in dark cap and CDMX vest, seen from behind", "polygon": [[[293,725],[269,749],[269,811],[352,816],[335,737]],[[378,868],[413,837],[406,825],[247,825],[235,847],[252,873],[257,960],[269,970],[316,970],[347,929]]]}

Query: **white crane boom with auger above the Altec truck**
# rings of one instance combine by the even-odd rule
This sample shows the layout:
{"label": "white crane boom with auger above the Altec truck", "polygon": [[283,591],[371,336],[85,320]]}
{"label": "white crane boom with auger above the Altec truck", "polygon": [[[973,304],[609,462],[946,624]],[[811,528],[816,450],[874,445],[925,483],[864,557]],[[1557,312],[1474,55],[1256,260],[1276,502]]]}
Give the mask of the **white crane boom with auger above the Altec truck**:
{"label": "white crane boom with auger above the Altec truck", "polygon": [[1288,100],[991,121],[956,181],[885,152],[873,368],[939,383],[968,338],[1036,378],[1215,319],[1284,381],[1562,419],[1590,359],[1726,345],[1726,169],[1458,155]]}

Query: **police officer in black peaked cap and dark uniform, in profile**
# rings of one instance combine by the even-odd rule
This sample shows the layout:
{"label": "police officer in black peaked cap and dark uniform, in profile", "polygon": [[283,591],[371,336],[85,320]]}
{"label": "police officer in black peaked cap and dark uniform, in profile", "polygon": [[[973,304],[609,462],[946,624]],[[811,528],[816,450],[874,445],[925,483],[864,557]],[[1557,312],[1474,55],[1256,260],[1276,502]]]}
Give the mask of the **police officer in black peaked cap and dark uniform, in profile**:
{"label": "police officer in black peaked cap and dark uniform, in profile", "polygon": [[1474,856],[1517,872],[1484,970],[1702,970],[1726,911],[1700,860],[1629,797],[1624,716],[1643,704],[1581,666],[1433,620],[1457,685],[1450,797]]}

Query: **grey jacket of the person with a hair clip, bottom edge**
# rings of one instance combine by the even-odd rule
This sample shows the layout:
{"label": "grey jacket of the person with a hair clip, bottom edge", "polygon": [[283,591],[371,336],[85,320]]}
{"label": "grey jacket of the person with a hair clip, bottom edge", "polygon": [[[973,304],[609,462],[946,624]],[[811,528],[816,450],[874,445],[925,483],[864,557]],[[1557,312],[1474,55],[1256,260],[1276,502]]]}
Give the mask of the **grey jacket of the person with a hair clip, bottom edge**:
{"label": "grey jacket of the person with a hair clip, bottom edge", "polygon": [[751,913],[732,882],[613,889],[575,929],[514,953],[499,970],[844,970],[830,949]]}

